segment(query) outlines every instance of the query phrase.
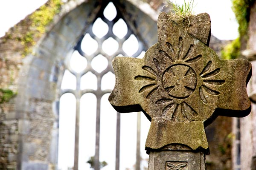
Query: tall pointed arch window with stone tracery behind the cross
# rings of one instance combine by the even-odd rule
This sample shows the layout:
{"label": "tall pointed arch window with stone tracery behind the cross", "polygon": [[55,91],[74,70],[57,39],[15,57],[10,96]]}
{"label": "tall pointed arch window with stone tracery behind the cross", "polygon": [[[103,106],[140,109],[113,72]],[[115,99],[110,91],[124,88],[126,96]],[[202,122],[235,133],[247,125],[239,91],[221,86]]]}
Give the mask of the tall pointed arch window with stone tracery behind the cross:
{"label": "tall pointed arch window with stone tracery behind the cross", "polygon": [[[108,103],[115,81],[111,61],[116,56],[142,58],[148,47],[115,3],[102,2],[96,19],[65,61],[59,93],[58,169],[89,169],[94,160],[95,170],[103,167],[104,161],[108,165],[102,170],[119,170],[132,168],[136,162],[137,115],[120,116]],[[141,128],[148,129],[150,122],[145,116],[141,121]]]}

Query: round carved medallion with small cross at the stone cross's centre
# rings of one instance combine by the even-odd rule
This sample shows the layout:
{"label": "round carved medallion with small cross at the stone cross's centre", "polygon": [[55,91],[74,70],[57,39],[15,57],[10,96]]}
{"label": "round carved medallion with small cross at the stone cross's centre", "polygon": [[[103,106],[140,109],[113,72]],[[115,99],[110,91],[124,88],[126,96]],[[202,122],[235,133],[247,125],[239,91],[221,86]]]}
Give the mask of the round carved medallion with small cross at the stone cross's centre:
{"label": "round carved medallion with small cross at the stone cross's centre", "polygon": [[169,96],[186,99],[195,91],[197,78],[191,67],[177,64],[163,72],[162,84]]}

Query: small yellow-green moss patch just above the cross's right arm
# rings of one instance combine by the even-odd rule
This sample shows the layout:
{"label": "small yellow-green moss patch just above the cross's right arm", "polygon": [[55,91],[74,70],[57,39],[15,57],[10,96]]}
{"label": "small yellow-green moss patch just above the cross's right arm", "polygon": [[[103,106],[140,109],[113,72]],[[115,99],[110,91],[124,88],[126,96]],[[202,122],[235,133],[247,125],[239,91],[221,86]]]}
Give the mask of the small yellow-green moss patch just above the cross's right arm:
{"label": "small yellow-green moss patch just above the cross's right arm", "polygon": [[233,40],[221,50],[222,59],[236,59],[240,56],[240,38]]}

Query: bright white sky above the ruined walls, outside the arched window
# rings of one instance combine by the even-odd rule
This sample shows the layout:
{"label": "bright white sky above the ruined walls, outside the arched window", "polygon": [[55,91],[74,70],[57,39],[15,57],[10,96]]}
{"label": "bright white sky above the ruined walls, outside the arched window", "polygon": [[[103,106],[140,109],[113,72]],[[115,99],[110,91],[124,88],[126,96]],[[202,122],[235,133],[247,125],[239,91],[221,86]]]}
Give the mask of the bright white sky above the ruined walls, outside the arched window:
{"label": "bright white sky above the ruined walls, outside the arched window", "polygon": [[[0,0],[0,37],[27,14],[47,0]],[[175,2],[175,0],[174,0]],[[184,0],[177,0],[183,3]],[[212,20],[212,34],[221,40],[235,39],[238,36],[238,24],[231,10],[231,0],[194,0],[195,12],[207,12]]]}

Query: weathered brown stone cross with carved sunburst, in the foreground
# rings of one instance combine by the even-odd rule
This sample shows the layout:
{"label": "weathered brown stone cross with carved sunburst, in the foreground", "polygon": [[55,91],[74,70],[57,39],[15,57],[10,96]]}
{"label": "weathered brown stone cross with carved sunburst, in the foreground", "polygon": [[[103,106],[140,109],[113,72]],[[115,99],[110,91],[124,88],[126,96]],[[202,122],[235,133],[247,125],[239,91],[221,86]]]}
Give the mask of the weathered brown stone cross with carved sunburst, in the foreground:
{"label": "weathered brown stone cross with carved sunburst, in the foreground", "polygon": [[221,60],[208,47],[206,13],[182,19],[162,12],[157,27],[158,42],[143,59],[113,59],[116,84],[109,101],[120,113],[143,111],[151,121],[149,170],[204,170],[204,127],[218,115],[250,113],[251,64]]}

